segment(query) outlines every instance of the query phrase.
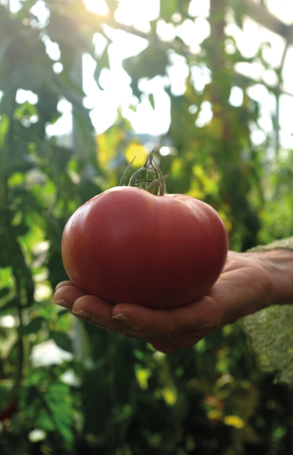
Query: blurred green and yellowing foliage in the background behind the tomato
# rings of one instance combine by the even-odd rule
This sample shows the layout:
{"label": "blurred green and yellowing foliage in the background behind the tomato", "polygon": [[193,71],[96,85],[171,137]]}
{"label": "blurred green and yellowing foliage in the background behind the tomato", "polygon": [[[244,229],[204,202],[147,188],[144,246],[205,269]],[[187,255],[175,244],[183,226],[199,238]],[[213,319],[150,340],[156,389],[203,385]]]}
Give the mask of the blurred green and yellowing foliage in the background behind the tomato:
{"label": "blurred green and yellowing foliage in the background behind the tomato", "polygon": [[[145,150],[121,113],[95,138],[83,105],[82,54],[96,61],[98,83],[109,66],[105,18],[80,0],[46,0],[48,18],[40,22],[31,11],[35,3],[22,0],[12,13],[9,2],[0,1],[0,453],[292,453],[292,390],[257,371],[238,324],[166,356],[72,320],[51,303],[54,286],[67,278],[61,260],[66,220],[84,201],[118,184],[133,152],[139,166]],[[106,3],[107,24],[119,28],[118,1]],[[124,67],[134,95],[143,98],[139,81],[166,76],[172,55],[182,55],[188,65],[185,93],[166,87],[171,123],[162,144],[172,144],[176,153],[157,158],[164,173],[172,171],[168,192],[215,207],[231,249],[292,235],[293,154],[276,147],[269,159],[274,137],[251,143],[259,107],[248,94],[253,83],[233,70],[246,59],[236,47],[234,53],[225,50],[226,3],[211,2],[212,32],[198,55],[179,38],[162,43],[156,34],[159,19],[174,25],[193,20],[189,1],[160,3],[148,46]],[[229,5],[239,22],[241,2]],[[95,33],[107,42],[101,55],[92,43]],[[59,45],[61,72],[46,52],[48,39]],[[194,69],[210,74],[201,90]],[[243,90],[239,107],[229,101],[234,86]],[[37,101],[17,102],[19,89],[30,90]],[[278,99],[278,90],[272,93]],[[153,94],[148,97],[155,108]],[[46,134],[61,116],[61,99],[72,105],[69,146]],[[213,117],[196,128],[204,102]]]}

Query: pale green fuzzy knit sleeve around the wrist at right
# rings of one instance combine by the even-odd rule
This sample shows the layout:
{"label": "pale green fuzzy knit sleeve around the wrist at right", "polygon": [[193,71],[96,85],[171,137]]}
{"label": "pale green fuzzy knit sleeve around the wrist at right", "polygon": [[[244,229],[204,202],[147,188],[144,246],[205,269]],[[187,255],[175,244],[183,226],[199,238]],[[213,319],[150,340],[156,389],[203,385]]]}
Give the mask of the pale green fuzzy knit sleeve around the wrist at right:
{"label": "pale green fuzzy knit sleeve around the wrist at right", "polygon": [[[251,248],[249,252],[279,248],[293,250],[293,237]],[[293,304],[273,305],[241,320],[257,364],[273,373],[275,382],[293,384]]]}

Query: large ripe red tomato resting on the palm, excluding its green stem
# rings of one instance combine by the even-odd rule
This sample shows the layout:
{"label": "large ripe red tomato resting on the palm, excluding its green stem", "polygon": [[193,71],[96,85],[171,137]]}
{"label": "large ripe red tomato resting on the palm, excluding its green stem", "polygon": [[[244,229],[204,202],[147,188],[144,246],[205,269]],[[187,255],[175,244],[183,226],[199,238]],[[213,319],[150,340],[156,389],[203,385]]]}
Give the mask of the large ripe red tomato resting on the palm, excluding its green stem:
{"label": "large ripe red tomato resting on the palm, excluding its green stem", "polygon": [[228,252],[225,225],[205,202],[114,187],[67,221],[62,258],[72,282],[110,303],[171,308],[203,297]]}

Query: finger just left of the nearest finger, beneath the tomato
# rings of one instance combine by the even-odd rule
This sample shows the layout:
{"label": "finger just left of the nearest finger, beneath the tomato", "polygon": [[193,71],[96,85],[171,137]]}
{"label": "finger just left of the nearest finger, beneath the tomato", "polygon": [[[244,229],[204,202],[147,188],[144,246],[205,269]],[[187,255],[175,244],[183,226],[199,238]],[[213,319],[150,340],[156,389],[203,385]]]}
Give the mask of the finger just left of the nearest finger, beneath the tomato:
{"label": "finger just left of the nearest finger, beneath the tomato", "polygon": [[131,327],[123,321],[112,318],[112,303],[99,297],[83,295],[78,297],[72,306],[72,314],[82,317],[96,325],[105,325],[111,330],[121,332]]}

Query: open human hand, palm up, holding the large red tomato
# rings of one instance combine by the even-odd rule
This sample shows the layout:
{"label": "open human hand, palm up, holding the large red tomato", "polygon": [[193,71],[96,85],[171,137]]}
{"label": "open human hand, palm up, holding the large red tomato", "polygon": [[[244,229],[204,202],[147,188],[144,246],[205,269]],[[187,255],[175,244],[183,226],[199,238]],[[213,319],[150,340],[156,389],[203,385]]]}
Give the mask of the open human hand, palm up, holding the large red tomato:
{"label": "open human hand, palm up, holding the large red tomato", "polygon": [[218,281],[202,299],[170,309],[132,303],[113,305],[72,282],[56,286],[54,301],[76,317],[107,330],[143,339],[165,353],[191,347],[209,333],[274,303],[270,252],[230,251]]}

